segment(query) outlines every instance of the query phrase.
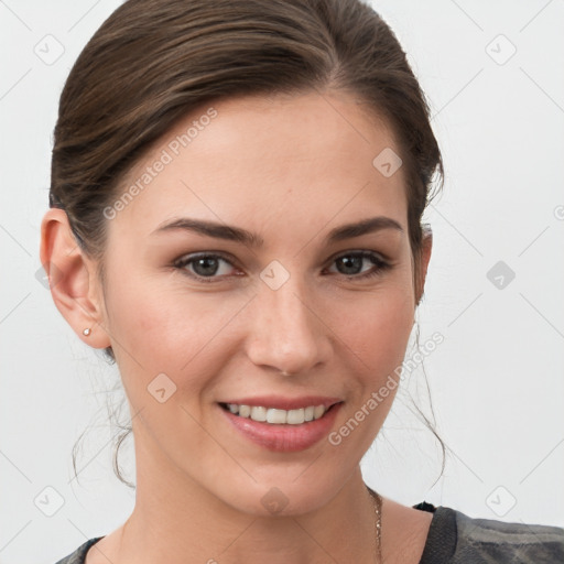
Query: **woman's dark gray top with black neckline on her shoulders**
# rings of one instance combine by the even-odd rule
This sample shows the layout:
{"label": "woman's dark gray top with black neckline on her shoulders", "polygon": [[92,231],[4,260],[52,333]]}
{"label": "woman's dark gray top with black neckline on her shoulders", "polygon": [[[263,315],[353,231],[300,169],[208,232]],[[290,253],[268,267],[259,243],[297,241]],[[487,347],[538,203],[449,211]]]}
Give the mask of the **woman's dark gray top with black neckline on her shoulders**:
{"label": "woman's dark gray top with black neckline on her shoulders", "polygon": [[[433,513],[419,564],[564,564],[564,529],[471,518],[425,501],[414,509]],[[56,564],[84,564],[102,536],[85,542]]]}

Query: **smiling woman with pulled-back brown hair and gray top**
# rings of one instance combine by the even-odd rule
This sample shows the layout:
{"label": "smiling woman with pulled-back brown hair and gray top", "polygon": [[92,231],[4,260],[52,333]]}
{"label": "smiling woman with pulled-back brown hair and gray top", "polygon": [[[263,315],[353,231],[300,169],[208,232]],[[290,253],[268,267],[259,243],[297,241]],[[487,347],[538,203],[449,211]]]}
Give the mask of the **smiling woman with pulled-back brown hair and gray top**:
{"label": "smiling woman with pulled-back brown hair and gray top", "polygon": [[130,0],[104,23],[62,94],[41,258],[119,367],[137,498],[61,563],[564,558],[558,528],[362,480],[435,173],[423,94],[357,0]]}

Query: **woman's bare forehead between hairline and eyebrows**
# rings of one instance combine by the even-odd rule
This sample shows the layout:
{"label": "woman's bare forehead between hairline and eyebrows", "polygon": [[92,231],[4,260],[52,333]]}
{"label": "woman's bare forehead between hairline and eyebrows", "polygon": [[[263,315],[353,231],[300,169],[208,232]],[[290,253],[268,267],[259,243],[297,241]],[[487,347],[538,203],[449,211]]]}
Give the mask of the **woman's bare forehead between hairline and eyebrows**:
{"label": "woman's bare forehead between hairline and eyebrows", "polygon": [[384,175],[378,167],[389,151],[400,153],[390,128],[350,95],[210,102],[180,120],[133,166],[118,198],[134,196],[111,230],[143,237],[183,215],[319,228],[336,216],[346,223],[381,214],[404,225],[403,169]]}

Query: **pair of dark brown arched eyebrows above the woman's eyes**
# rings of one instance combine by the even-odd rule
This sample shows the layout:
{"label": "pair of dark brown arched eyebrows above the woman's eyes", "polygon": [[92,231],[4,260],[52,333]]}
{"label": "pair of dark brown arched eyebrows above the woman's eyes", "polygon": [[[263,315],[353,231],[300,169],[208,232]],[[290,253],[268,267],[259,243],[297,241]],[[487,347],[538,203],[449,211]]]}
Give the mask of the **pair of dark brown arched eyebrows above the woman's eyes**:
{"label": "pair of dark brown arched eyebrows above the woman's eyes", "polygon": [[[236,241],[247,245],[252,248],[262,247],[264,240],[259,235],[256,235],[247,229],[240,227],[219,224],[216,221],[207,221],[202,219],[192,219],[182,217],[173,219],[172,221],[160,225],[153,234],[161,234],[174,230],[194,231],[207,237],[217,239],[225,239],[228,241]],[[338,242],[352,237],[360,237],[362,235],[381,231],[383,229],[393,229],[403,232],[402,226],[391,217],[377,216],[362,219],[361,221],[346,224],[332,229],[327,236],[327,242]]]}

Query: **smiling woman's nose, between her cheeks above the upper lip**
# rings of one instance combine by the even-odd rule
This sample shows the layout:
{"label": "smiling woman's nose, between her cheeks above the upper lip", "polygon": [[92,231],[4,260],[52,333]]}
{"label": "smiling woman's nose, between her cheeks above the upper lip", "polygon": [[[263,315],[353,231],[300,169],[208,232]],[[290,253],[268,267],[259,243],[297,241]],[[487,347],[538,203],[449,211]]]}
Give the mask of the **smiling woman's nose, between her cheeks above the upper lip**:
{"label": "smiling woman's nose, between her cheeks above the upper lip", "polygon": [[296,278],[278,290],[261,284],[251,304],[247,354],[256,366],[285,376],[310,373],[326,364],[333,350],[323,305]]}

